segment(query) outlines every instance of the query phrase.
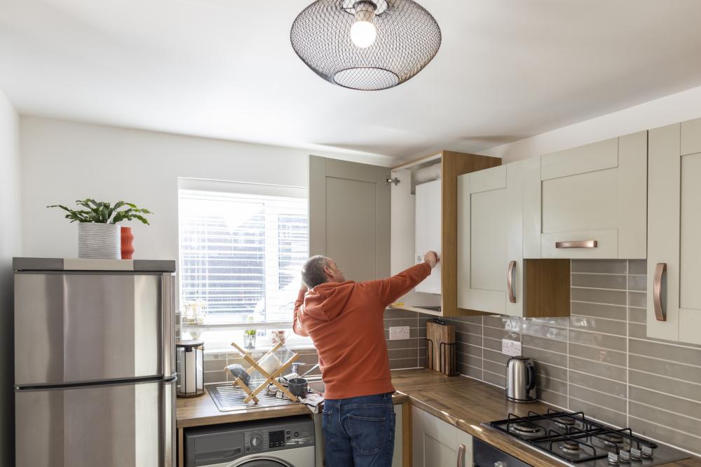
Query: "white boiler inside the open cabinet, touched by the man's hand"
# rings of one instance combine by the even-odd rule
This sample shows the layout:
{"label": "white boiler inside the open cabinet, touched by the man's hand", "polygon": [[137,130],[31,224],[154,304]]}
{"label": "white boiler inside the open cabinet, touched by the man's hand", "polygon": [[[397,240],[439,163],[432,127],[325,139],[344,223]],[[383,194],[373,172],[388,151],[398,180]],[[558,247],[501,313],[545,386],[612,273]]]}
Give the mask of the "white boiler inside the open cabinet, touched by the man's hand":
{"label": "white boiler inside the open cabinet, touched by the man's hand", "polygon": [[[441,181],[416,185],[416,263],[423,262],[423,254],[434,250],[441,255]],[[441,268],[416,285],[416,292],[441,293]]]}

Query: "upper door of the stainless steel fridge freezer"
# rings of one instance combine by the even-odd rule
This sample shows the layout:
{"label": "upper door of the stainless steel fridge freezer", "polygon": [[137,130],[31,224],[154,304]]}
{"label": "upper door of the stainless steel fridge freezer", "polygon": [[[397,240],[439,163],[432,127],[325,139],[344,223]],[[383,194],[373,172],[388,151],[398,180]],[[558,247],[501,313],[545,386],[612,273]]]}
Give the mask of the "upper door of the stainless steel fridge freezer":
{"label": "upper door of the stainless steel fridge freezer", "polygon": [[172,281],[170,273],[15,273],[15,386],[172,374]]}

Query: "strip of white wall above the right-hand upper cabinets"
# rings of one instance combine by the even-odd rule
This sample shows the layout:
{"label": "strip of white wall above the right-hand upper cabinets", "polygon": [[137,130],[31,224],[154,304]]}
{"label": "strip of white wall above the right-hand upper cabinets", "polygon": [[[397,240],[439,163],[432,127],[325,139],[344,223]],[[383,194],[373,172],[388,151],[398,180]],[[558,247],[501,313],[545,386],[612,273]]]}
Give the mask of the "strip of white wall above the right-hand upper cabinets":
{"label": "strip of white wall above the right-hand upper cabinets", "polygon": [[481,154],[501,157],[503,163],[508,163],[698,117],[701,117],[701,86],[503,144]]}

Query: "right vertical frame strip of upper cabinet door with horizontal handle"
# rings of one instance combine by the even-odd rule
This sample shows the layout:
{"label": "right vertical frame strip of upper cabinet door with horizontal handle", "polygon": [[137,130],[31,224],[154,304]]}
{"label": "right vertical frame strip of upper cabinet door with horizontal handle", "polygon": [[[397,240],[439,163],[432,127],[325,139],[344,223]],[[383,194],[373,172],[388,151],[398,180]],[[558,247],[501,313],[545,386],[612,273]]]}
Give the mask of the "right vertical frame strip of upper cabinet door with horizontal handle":
{"label": "right vertical frame strip of upper cabinet door with horizontal handle", "polygon": [[618,138],[618,257],[647,255],[648,132]]}

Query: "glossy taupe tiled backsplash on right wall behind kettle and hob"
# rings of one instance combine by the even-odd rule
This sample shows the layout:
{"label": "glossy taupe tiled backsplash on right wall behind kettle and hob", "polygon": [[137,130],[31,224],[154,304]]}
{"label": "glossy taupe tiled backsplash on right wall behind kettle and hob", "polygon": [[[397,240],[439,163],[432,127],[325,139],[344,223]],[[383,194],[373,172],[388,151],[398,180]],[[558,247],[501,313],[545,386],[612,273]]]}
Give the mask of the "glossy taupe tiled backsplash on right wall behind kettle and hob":
{"label": "glossy taupe tiled backsplash on right wall behind kettle and hob", "polygon": [[646,262],[573,260],[571,292],[570,318],[452,319],[458,370],[503,387],[521,341],[545,402],[701,454],[701,346],[646,337]]}

